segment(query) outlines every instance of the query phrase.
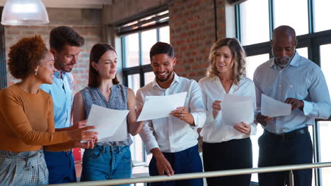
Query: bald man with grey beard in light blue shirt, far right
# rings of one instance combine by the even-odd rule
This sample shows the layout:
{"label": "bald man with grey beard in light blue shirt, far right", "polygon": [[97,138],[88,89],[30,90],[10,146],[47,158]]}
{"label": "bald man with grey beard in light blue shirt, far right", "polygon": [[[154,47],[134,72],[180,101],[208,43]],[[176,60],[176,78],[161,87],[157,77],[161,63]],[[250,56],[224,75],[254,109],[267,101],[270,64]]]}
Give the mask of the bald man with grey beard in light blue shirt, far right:
{"label": "bald man with grey beard in light blue shirt, far right", "polygon": [[[296,33],[289,26],[273,32],[271,58],[255,70],[257,110],[261,94],[291,104],[291,114],[269,118],[257,114],[265,132],[259,139],[259,167],[312,163],[313,144],[308,125],[315,118],[329,118],[330,95],[325,77],[315,63],[296,51]],[[278,186],[289,181],[289,172],[261,173],[259,185]],[[312,170],[294,171],[294,185],[311,185]]]}

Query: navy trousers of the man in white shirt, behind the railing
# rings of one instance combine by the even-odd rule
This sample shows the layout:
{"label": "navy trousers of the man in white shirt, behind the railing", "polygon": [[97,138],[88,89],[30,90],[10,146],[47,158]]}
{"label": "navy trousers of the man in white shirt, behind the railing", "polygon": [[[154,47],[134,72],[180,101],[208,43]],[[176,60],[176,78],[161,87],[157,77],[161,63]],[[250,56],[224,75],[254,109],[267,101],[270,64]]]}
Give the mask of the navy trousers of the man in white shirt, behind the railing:
{"label": "navy trousers of the man in white shirt, behind the railing", "polygon": [[[167,159],[175,171],[175,174],[181,173],[197,173],[202,172],[202,161],[199,156],[198,146],[190,147],[189,149],[178,151],[175,153],[163,152],[165,159]],[[158,168],[156,167],[156,159],[151,159],[149,163],[149,175],[158,175]],[[151,182],[151,186],[203,186],[202,178],[191,180],[175,180],[168,182]]]}

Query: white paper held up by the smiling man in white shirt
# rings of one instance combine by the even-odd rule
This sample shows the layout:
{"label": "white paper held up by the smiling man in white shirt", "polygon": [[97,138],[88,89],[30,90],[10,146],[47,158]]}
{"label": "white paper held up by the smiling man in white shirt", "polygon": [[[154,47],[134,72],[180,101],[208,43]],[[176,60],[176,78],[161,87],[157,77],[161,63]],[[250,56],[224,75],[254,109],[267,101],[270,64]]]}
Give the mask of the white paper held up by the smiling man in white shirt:
{"label": "white paper held up by the smiling man in white shirt", "polygon": [[170,112],[184,106],[187,92],[168,96],[147,96],[137,121],[153,120],[170,116]]}

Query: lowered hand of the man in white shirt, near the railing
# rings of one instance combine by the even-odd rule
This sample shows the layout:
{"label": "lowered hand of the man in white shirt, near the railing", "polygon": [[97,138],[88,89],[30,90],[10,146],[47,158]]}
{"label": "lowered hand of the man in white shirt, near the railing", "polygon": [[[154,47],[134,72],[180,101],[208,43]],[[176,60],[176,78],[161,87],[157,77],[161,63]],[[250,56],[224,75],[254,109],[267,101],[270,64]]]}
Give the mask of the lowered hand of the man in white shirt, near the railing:
{"label": "lowered hand of the man in white shirt, near the railing", "polygon": [[166,173],[168,176],[170,176],[175,173],[169,161],[165,159],[165,156],[160,151],[160,149],[158,148],[151,149],[151,153],[156,159],[156,167],[158,168],[158,175],[164,175],[164,173]]}

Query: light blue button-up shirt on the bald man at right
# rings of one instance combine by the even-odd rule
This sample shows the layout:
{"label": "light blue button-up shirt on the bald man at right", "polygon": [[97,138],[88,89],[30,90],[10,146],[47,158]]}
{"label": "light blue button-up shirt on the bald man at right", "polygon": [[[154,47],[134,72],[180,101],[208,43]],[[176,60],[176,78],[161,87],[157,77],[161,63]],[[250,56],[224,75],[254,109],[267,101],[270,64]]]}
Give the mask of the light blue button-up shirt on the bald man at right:
{"label": "light blue button-up shirt on the bald man at right", "polygon": [[265,126],[269,132],[291,132],[313,125],[314,118],[329,118],[331,114],[329,90],[322,70],[297,51],[286,68],[279,68],[274,58],[257,67],[254,82],[257,111],[260,111],[261,94],[282,102],[287,98],[303,100],[303,111],[295,109],[289,116],[274,117]]}

